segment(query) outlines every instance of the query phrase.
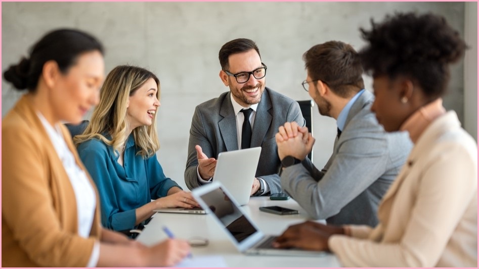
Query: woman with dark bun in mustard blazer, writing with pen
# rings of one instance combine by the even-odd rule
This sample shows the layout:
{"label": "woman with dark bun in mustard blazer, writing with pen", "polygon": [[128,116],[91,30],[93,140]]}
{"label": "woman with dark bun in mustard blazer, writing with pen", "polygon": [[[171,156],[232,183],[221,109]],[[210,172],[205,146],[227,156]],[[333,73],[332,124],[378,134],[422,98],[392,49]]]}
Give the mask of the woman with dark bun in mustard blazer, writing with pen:
{"label": "woman with dark bun in mustard blazer, writing with pen", "polygon": [[2,122],[2,266],[171,266],[188,254],[185,241],[146,247],[100,224],[97,190],[61,122],[98,103],[104,72],[100,42],[69,29],[4,72],[28,92]]}

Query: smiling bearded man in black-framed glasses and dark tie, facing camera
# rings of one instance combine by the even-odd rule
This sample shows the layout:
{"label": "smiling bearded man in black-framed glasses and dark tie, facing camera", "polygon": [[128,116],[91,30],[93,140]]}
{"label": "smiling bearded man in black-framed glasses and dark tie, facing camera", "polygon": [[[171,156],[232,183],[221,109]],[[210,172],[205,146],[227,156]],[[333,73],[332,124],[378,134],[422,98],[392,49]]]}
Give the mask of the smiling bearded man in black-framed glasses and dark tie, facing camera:
{"label": "smiling bearded man in black-framed glasses and dark tie, facing camera", "polygon": [[266,85],[267,67],[256,44],[239,38],[219,53],[220,78],[230,90],[196,106],[190,129],[185,182],[191,190],[211,182],[224,151],[261,146],[251,195],[281,192],[275,134],[285,122],[304,126],[296,101]]}

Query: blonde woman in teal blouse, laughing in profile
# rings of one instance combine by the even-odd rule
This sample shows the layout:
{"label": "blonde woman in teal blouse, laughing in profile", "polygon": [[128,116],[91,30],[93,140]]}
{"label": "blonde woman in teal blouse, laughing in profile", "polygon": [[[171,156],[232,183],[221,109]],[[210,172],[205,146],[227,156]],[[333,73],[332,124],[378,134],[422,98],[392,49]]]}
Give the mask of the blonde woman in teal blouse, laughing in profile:
{"label": "blonde woman in teal blouse, laughing in profile", "polygon": [[158,78],[146,69],[114,68],[90,124],[74,138],[97,184],[102,223],[109,229],[137,228],[157,208],[199,206],[190,192],[164,175],[156,158],[159,90]]}

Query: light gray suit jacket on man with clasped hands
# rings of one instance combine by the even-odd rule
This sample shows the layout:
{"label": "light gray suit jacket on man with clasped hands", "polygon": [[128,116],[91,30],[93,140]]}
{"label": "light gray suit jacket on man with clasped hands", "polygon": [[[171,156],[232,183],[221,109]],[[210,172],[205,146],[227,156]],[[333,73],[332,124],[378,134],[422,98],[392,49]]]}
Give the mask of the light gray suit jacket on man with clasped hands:
{"label": "light gray suit jacket on man with clasped hands", "polygon": [[281,174],[281,186],[315,219],[376,226],[377,207],[412,148],[406,132],[386,133],[370,111],[368,91],[356,100],[322,171],[306,158]]}

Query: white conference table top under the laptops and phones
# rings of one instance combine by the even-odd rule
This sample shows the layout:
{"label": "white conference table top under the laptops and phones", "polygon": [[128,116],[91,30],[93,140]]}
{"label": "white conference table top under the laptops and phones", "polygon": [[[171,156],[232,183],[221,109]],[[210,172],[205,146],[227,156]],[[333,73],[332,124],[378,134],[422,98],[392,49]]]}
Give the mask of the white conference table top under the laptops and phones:
{"label": "white conference table top under the laptops and phones", "polygon": [[[259,206],[279,205],[296,209],[299,214],[276,215],[259,211]],[[308,220],[304,209],[292,199],[272,201],[269,197],[251,197],[247,205],[242,206],[249,217],[266,235],[279,235],[288,226]],[[153,245],[167,239],[163,226],[181,239],[202,237],[208,239],[207,246],[192,247],[195,257],[220,255],[228,267],[339,267],[334,254],[319,257],[293,256],[256,256],[240,253],[228,239],[224,230],[208,214],[155,213],[145,226],[137,240],[145,245]]]}

